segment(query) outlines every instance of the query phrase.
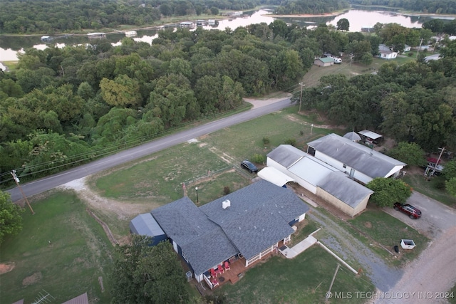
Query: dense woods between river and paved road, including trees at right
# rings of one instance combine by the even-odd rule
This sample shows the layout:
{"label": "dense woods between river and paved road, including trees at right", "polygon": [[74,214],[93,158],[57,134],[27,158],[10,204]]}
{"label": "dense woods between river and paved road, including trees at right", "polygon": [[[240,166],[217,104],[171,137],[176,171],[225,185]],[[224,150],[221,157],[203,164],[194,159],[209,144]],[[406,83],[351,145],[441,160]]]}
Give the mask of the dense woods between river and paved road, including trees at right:
{"label": "dense woods between river and paved road, including trees at right", "polygon": [[[0,184],[36,178],[151,140],[164,130],[242,105],[244,96],[294,91],[323,53],[368,65],[378,45],[418,46],[425,28],[376,24],[375,35],[314,30],[276,20],[232,31],[172,28],[152,46],[124,38],[31,48],[0,73]],[[456,44],[442,60],[385,63],[376,75],[331,75],[306,89],[304,107],[348,128],[381,130],[427,152],[455,149]],[[296,96],[294,98],[296,101]],[[398,107],[400,105],[400,107]]]}

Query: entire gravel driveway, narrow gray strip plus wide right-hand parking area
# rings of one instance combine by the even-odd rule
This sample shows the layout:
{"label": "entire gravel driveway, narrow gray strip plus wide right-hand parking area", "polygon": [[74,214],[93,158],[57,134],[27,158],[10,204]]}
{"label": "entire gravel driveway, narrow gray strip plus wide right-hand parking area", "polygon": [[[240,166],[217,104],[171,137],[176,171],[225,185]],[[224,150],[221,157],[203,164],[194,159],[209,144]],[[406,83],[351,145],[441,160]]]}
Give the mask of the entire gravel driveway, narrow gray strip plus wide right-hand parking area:
{"label": "entire gravel driveway, narrow gray strip plus wide right-hand parking area", "polygon": [[353,296],[363,297],[368,303],[447,303],[447,292],[456,282],[456,210],[418,192],[413,192],[408,203],[423,212],[421,219],[412,220],[392,208],[385,208],[385,212],[432,241],[418,259],[401,269],[386,264],[318,209],[308,214],[328,231],[328,236],[319,241],[348,263],[361,265],[377,288],[374,293]]}

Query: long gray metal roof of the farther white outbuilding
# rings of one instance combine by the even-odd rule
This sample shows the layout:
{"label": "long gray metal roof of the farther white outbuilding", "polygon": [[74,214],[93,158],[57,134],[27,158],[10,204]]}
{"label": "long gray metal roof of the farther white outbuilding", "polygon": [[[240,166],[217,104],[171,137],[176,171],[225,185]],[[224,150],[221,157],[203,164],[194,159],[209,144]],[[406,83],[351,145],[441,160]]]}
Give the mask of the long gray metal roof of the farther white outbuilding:
{"label": "long gray metal roof of the farther white outbuilding", "polygon": [[386,177],[395,166],[406,164],[336,134],[318,138],[307,145],[356,169],[368,177]]}

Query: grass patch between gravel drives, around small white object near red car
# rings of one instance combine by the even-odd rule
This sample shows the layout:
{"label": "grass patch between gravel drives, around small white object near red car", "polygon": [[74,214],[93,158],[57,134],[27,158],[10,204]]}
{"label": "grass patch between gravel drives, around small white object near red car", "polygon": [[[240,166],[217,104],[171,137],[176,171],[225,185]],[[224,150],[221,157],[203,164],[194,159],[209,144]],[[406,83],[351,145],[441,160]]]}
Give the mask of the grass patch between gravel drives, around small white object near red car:
{"label": "grass patch between gravel drives, around small white object near red car", "polygon": [[385,261],[395,266],[413,261],[427,247],[427,242],[430,241],[423,234],[380,209],[368,209],[348,222],[356,229],[357,234],[363,235],[363,238],[360,239],[361,241],[369,242],[366,245],[369,246],[372,241],[375,241],[393,253],[393,247],[395,245],[400,246],[400,239],[413,239],[417,246],[413,250],[403,250],[399,247],[400,253],[395,254],[398,258],[394,258],[384,248],[374,244],[377,247],[375,251],[380,256],[383,256]]}

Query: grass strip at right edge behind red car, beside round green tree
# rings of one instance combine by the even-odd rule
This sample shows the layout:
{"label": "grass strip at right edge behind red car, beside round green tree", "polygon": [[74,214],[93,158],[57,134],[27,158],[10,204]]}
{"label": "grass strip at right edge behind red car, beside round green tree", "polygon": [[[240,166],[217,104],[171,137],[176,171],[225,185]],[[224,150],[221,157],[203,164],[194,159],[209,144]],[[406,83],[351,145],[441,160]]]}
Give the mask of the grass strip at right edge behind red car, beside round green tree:
{"label": "grass strip at right edge behind red car, beside round green tree", "polygon": [[443,190],[445,189],[445,177],[443,176],[434,176],[430,181],[427,181],[424,174],[405,174],[403,180],[410,184],[415,191],[425,196],[429,196],[447,206],[456,206],[456,198]]}

